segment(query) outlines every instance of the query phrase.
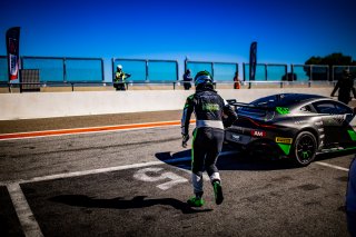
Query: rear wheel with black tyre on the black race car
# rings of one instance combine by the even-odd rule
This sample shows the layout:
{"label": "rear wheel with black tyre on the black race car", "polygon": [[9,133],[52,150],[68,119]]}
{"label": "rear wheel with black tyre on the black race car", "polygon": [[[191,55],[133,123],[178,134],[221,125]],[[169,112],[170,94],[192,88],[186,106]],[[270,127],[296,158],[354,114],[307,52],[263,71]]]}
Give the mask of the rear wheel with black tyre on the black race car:
{"label": "rear wheel with black tyre on the black race car", "polygon": [[293,146],[293,158],[298,166],[308,166],[315,158],[317,141],[309,131],[298,134]]}

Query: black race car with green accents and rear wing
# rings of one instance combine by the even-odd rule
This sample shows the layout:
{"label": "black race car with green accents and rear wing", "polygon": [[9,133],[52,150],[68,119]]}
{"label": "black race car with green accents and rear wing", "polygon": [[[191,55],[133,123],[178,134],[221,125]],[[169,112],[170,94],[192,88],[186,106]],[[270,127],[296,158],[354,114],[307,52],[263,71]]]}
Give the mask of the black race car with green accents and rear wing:
{"label": "black race car with green accents and rear wing", "polygon": [[228,102],[238,119],[226,128],[225,141],[255,155],[289,158],[307,166],[317,154],[356,151],[356,132],[350,126],[356,111],[343,102],[306,93]]}

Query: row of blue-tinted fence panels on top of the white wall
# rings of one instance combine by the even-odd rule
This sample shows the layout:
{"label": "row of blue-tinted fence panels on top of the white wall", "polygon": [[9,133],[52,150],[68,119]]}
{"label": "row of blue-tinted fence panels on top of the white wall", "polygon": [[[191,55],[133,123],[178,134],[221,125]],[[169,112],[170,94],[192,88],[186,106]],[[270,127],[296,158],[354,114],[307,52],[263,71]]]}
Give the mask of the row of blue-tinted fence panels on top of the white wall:
{"label": "row of blue-tinted fence panels on top of the white wall", "polygon": [[[72,57],[21,57],[21,70],[38,70],[38,81],[11,81],[8,82],[7,57],[0,56],[0,86],[11,88],[24,85],[39,85],[40,87],[98,87],[112,86],[118,65],[131,77],[126,86],[140,85],[171,85],[174,89],[185,83],[181,81],[184,71],[179,71],[177,60],[157,59],[111,59],[111,72],[105,70],[105,61],[101,58],[72,58]],[[209,71],[216,85],[234,85],[235,75],[239,73],[239,65],[236,62],[194,61],[186,59],[184,70],[190,69],[191,76],[200,70]],[[239,80],[249,88],[254,85],[305,85],[330,83],[343,76],[343,70],[349,69],[356,75],[356,66],[319,66],[319,65],[278,65],[257,63],[255,80],[249,78],[249,65],[243,63]],[[20,73],[21,75],[21,73]]]}

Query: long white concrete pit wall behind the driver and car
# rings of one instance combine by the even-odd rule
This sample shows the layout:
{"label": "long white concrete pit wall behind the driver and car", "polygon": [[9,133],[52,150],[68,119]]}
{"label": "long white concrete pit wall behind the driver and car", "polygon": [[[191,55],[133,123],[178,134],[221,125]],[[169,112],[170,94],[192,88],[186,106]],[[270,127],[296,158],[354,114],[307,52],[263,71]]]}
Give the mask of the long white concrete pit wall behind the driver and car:
{"label": "long white concrete pit wall behind the driver and car", "polygon": [[[250,102],[283,92],[329,96],[333,88],[218,89],[225,99]],[[0,93],[0,120],[180,110],[194,90]]]}

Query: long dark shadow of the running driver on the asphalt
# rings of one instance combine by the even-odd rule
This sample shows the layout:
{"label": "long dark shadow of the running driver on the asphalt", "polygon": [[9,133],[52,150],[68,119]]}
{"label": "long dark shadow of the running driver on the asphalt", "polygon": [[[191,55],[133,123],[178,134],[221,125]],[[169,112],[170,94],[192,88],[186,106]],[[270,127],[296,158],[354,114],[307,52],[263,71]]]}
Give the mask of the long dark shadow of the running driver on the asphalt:
{"label": "long dark shadow of the running driver on the asphalt", "polygon": [[171,206],[182,214],[196,214],[211,211],[212,209],[195,209],[187,203],[182,203],[175,198],[156,198],[146,199],[147,196],[136,196],[130,200],[122,199],[121,197],[112,199],[96,199],[85,195],[60,195],[50,198],[49,200],[69,206],[88,207],[88,208],[111,208],[111,209],[136,209],[151,207],[155,205]]}

